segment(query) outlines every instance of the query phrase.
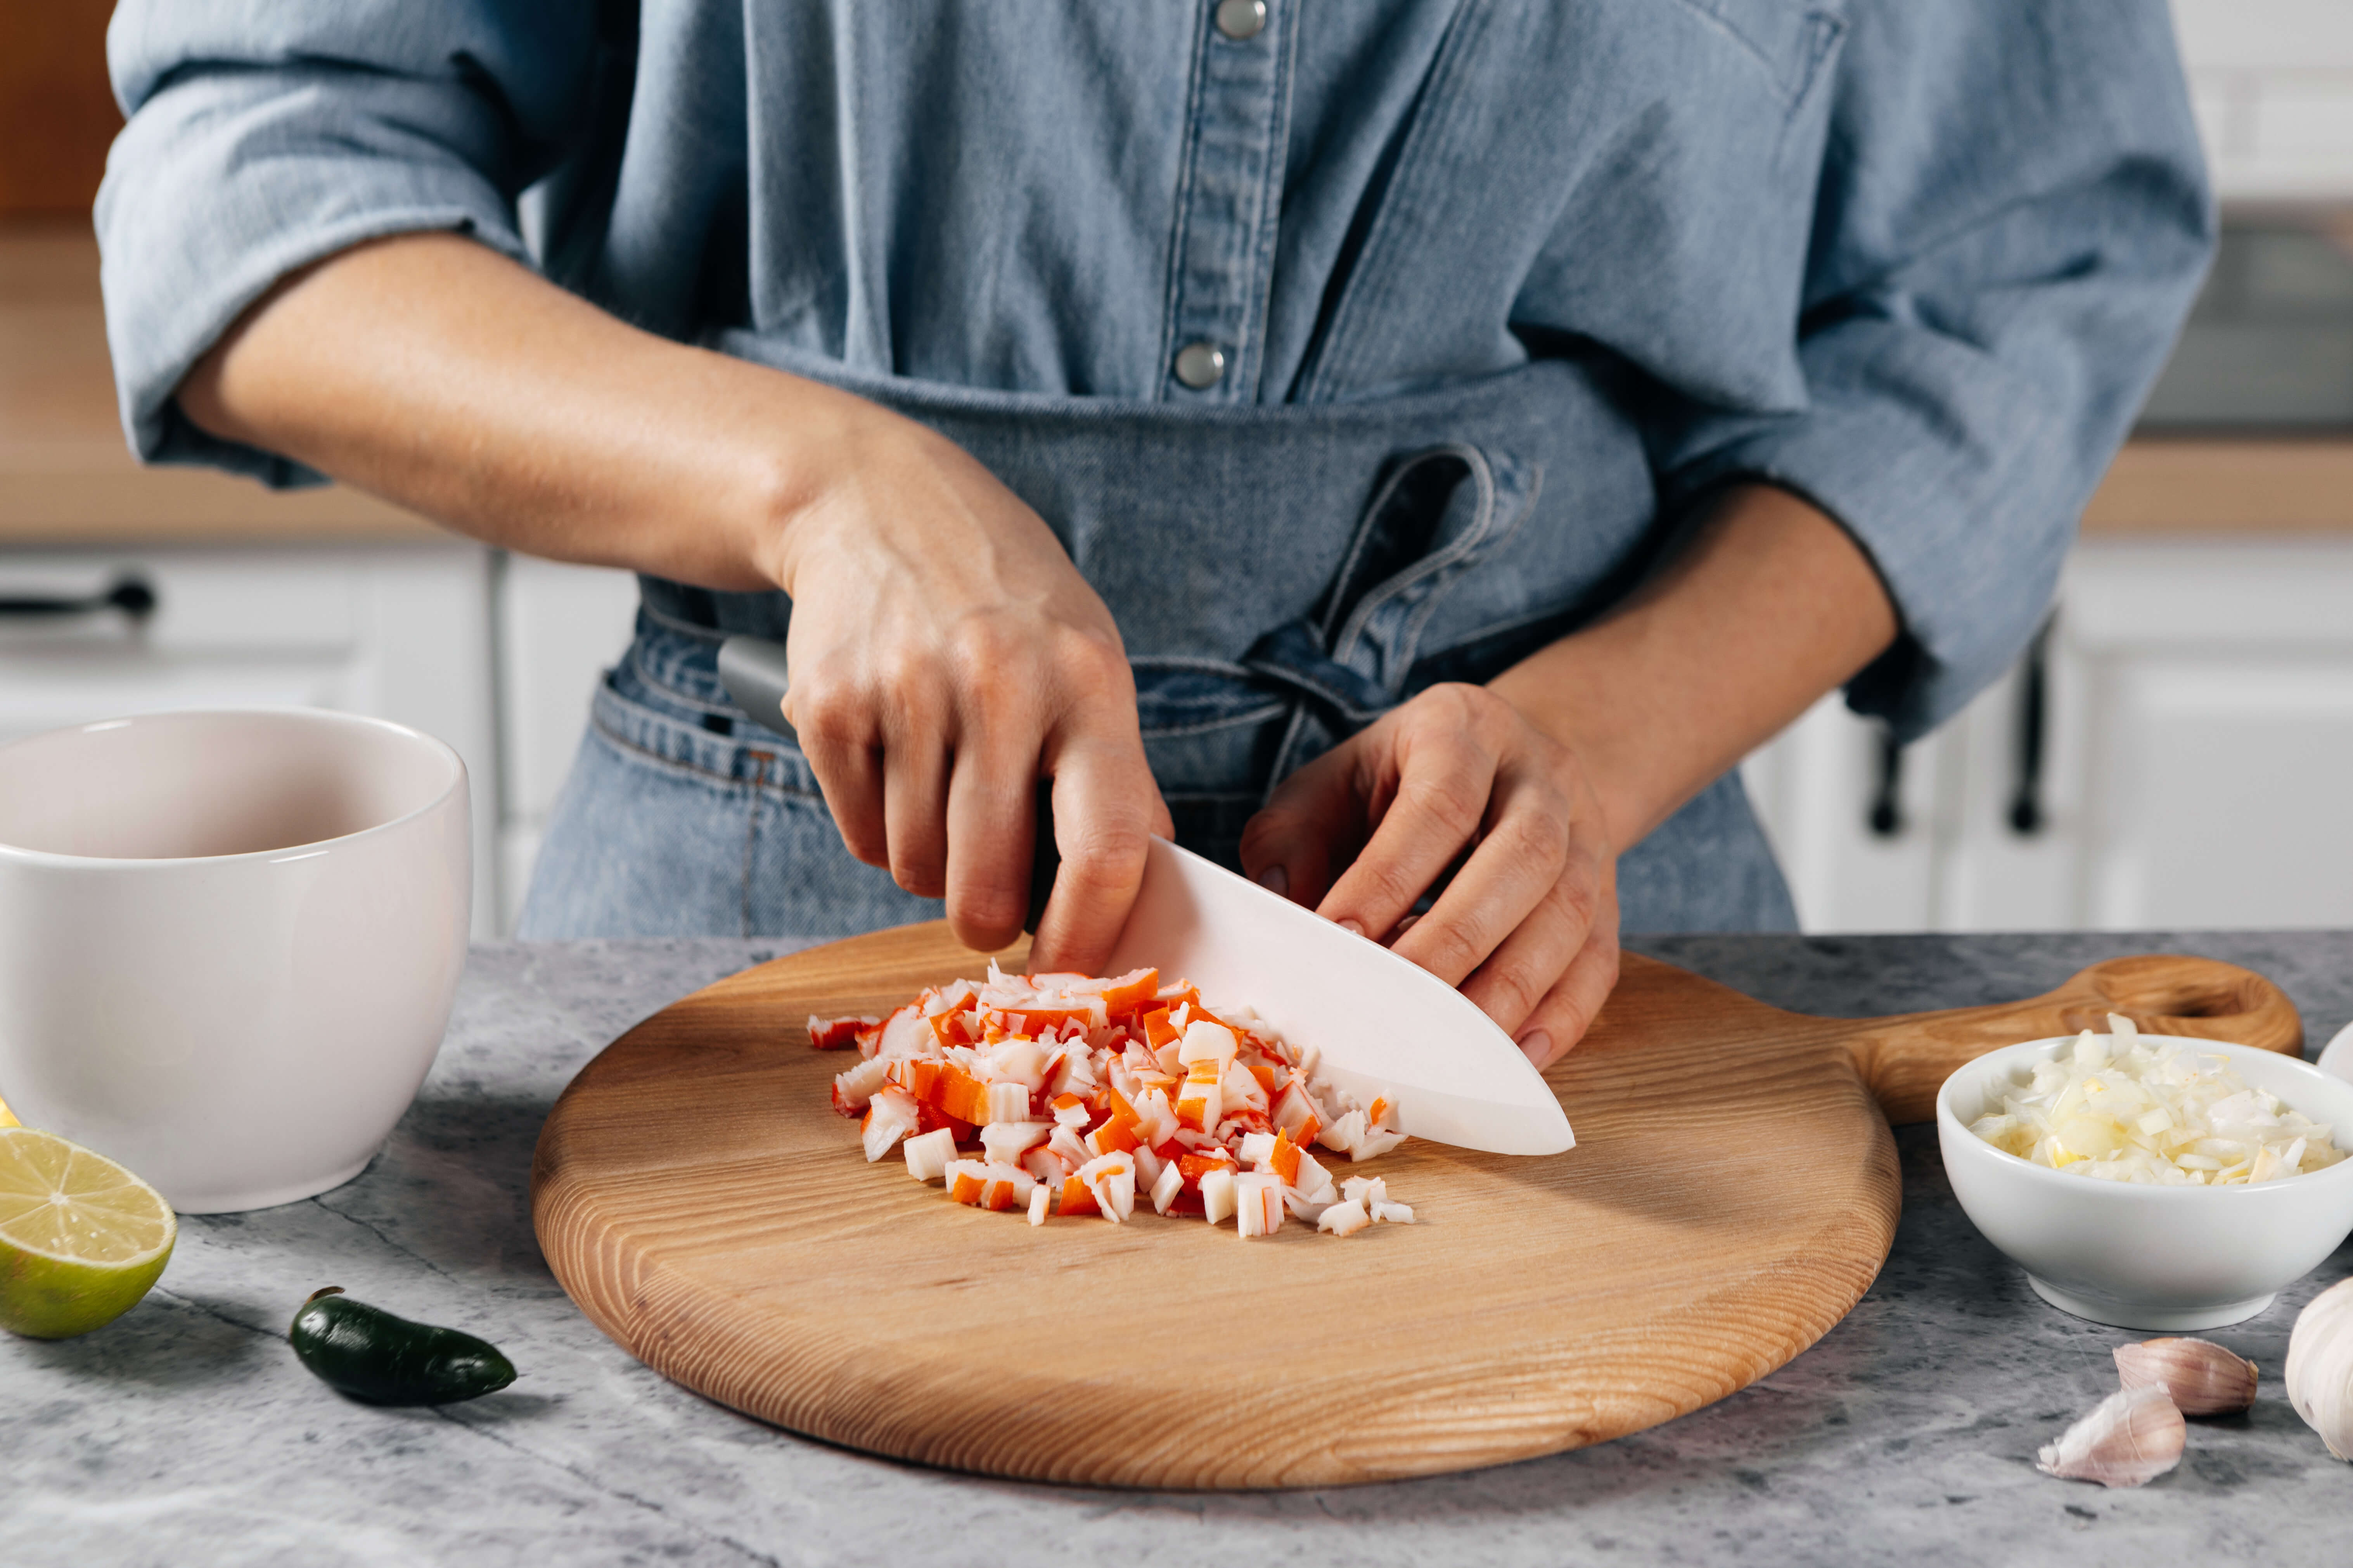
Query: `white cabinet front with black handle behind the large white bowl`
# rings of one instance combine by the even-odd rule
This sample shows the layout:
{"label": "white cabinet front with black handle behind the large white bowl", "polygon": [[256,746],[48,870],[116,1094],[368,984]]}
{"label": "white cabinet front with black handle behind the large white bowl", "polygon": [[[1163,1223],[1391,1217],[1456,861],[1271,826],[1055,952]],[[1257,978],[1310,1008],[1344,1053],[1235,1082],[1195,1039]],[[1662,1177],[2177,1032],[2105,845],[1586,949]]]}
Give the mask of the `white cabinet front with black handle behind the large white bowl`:
{"label": "white cabinet front with black handle behind the large white bowl", "polygon": [[0,597],[136,578],[151,614],[0,616],[0,738],[165,708],[306,705],[440,736],[473,788],[475,933],[496,929],[489,555],[464,543],[0,552]]}

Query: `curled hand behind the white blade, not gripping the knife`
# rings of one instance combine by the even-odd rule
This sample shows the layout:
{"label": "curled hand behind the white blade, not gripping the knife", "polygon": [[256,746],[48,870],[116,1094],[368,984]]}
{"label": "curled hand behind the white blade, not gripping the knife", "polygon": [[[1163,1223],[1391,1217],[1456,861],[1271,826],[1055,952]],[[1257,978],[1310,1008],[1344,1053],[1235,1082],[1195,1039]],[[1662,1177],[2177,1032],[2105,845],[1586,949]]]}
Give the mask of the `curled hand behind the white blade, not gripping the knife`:
{"label": "curled hand behind the white blade, not gripping the knife", "polygon": [[1584,1037],[1617,985],[1617,849],[1593,785],[1485,686],[1431,686],[1282,780],[1242,830],[1242,870],[1325,919],[1393,936],[1537,1067]]}

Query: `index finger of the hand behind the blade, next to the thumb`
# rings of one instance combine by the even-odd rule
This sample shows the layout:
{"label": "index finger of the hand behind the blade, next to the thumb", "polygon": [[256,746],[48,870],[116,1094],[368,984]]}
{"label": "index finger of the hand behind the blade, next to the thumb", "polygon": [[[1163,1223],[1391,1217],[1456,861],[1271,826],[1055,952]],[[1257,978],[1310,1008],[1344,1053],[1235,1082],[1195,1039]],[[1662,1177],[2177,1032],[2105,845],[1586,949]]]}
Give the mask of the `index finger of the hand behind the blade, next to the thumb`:
{"label": "index finger of the hand behind the blade, next to the thumb", "polygon": [[[1318,905],[1325,919],[1355,931],[1386,933],[1412,912],[1478,837],[1494,788],[1494,755],[1457,729],[1398,731],[1391,745],[1398,750],[1398,783],[1388,809]],[[1471,969],[1464,966],[1464,973]],[[1452,976],[1449,985],[1454,980],[1461,976]]]}

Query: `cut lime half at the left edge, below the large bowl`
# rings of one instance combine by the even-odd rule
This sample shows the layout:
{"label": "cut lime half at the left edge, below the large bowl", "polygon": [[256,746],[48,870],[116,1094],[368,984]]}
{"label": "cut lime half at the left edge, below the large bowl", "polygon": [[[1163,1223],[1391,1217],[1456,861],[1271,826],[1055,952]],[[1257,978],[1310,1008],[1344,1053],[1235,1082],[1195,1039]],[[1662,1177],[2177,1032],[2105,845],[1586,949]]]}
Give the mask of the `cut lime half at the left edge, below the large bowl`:
{"label": "cut lime half at the left edge, below the large bowl", "polygon": [[179,1220],[115,1161],[28,1126],[0,1128],[0,1328],[66,1340],[129,1312],[172,1258]]}

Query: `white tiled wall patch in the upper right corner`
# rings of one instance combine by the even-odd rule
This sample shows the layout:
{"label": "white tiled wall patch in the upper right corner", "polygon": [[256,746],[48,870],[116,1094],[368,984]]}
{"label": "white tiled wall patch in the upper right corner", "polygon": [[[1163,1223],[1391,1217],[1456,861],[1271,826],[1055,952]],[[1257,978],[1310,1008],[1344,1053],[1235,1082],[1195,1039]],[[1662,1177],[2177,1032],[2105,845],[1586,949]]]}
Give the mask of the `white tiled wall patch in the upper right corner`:
{"label": "white tiled wall patch in the upper right corner", "polygon": [[2353,0],[2172,7],[2221,200],[2353,200]]}

